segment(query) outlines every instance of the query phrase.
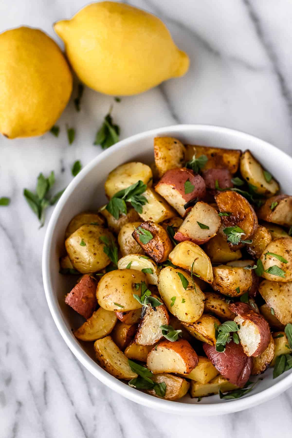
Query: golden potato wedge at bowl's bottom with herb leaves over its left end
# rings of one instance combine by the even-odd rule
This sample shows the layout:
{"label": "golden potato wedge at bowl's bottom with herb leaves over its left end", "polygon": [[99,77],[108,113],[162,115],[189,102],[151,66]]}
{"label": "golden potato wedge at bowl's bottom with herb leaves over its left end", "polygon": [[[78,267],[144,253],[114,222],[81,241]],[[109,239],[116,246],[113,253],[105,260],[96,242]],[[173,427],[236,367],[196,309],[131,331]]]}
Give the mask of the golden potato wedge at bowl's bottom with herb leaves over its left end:
{"label": "golden potato wedge at bowl's bottom with herb leaves over its left end", "polygon": [[175,401],[184,397],[190,389],[190,383],[186,379],[168,373],[155,374],[153,381],[156,383],[165,382],[166,384],[166,392],[164,397],[158,396],[154,389],[148,389],[147,391],[148,394],[158,397],[159,399]]}

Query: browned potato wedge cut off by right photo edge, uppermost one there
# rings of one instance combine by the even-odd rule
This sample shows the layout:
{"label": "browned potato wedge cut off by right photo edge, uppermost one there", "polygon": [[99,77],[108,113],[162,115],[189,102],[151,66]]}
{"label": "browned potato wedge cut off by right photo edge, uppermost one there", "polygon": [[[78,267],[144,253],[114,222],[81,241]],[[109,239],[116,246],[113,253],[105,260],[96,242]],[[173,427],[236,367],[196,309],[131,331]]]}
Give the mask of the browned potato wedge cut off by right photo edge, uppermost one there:
{"label": "browned potato wedge cut off by right photo edge, uppermost one there", "polygon": [[257,210],[257,216],[267,222],[292,226],[292,196],[288,194],[272,196]]}

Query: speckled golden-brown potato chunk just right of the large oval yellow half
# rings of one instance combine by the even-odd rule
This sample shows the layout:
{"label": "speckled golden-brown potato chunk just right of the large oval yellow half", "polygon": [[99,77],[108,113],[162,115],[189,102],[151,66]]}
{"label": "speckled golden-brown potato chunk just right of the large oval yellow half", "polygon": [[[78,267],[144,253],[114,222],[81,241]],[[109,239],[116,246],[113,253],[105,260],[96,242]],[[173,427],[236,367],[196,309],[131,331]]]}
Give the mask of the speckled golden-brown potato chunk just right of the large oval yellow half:
{"label": "speckled golden-brown potato chunk just right of the large oval yellow half", "polygon": [[234,266],[213,266],[214,281],[211,284],[214,290],[229,297],[240,297],[246,293],[253,284],[250,269],[236,268]]}

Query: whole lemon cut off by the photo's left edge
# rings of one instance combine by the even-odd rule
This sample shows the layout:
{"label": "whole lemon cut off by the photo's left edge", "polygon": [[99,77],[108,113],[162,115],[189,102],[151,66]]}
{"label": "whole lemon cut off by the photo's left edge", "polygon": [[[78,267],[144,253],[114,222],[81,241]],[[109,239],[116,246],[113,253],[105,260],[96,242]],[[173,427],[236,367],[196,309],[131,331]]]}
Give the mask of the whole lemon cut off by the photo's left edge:
{"label": "whole lemon cut off by the photo's left edge", "polygon": [[53,39],[20,27],[0,34],[0,132],[8,138],[42,135],[60,117],[72,74]]}

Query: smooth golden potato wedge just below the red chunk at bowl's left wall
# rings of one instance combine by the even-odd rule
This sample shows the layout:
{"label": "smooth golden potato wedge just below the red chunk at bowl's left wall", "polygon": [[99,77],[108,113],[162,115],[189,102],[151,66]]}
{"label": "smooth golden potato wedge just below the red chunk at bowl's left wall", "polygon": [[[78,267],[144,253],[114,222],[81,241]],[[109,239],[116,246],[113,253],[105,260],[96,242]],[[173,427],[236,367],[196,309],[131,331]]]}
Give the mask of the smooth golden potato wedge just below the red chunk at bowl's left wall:
{"label": "smooth golden potato wedge just below the red chunk at bowl's left wall", "polygon": [[116,325],[116,321],[115,312],[99,307],[79,329],[75,330],[74,336],[81,341],[96,341],[96,339],[109,335]]}

